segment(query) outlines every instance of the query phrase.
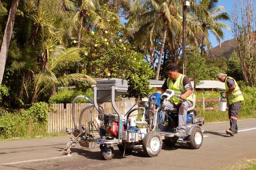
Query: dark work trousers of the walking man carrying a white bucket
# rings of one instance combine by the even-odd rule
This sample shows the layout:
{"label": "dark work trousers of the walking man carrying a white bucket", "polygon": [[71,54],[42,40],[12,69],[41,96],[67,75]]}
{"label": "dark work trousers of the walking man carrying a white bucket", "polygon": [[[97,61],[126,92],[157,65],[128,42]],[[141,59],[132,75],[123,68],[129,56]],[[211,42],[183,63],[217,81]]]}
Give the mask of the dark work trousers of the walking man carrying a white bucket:
{"label": "dark work trousers of the walking man carrying a white bucket", "polygon": [[230,124],[229,130],[231,130],[234,133],[237,133],[237,117],[240,106],[241,101],[234,102],[228,106],[228,118]]}

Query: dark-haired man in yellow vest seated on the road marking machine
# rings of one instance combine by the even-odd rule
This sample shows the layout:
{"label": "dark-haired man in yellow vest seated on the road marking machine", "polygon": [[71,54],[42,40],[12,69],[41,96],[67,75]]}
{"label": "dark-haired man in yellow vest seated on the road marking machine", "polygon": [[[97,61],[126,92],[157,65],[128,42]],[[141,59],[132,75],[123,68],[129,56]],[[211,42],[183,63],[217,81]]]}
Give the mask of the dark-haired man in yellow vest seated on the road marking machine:
{"label": "dark-haired man in yellow vest seated on the road marking machine", "polygon": [[166,101],[160,111],[166,113],[173,108],[179,110],[179,127],[178,133],[175,133],[177,137],[183,137],[186,135],[186,121],[187,110],[193,105],[192,86],[187,76],[180,74],[178,67],[175,64],[169,64],[167,66],[168,79],[164,82],[160,90],[156,93],[163,94],[166,89],[174,90],[174,92],[181,92],[181,98],[173,96],[169,101]]}

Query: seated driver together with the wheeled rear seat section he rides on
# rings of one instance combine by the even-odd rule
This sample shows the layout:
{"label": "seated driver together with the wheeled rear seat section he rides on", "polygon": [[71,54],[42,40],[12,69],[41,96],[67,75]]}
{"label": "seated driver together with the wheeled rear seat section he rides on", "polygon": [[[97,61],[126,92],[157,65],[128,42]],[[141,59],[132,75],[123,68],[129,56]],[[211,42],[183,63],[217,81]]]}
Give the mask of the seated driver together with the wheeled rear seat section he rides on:
{"label": "seated driver together with the wheeled rear seat section he rides on", "polygon": [[[188,147],[198,149],[203,143],[203,117],[195,111],[195,94],[187,76],[180,74],[178,67],[167,67],[168,79],[151,98],[158,108],[159,134],[164,144],[173,146],[177,140],[187,142]],[[162,102],[160,101],[162,100]]]}

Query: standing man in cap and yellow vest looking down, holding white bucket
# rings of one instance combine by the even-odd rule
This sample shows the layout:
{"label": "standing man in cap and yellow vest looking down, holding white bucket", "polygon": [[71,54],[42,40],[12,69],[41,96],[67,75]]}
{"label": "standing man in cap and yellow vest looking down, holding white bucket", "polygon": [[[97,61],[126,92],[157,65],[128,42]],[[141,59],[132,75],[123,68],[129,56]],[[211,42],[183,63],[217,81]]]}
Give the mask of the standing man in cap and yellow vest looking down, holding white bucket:
{"label": "standing man in cap and yellow vest looking down, holding white bucket", "polygon": [[244,98],[234,78],[228,77],[227,74],[219,73],[218,80],[225,82],[226,86],[225,95],[228,101],[228,118],[230,122],[230,128],[229,130],[226,130],[226,133],[230,136],[234,136],[235,133],[237,133],[238,112],[241,106],[241,101],[243,101]]}

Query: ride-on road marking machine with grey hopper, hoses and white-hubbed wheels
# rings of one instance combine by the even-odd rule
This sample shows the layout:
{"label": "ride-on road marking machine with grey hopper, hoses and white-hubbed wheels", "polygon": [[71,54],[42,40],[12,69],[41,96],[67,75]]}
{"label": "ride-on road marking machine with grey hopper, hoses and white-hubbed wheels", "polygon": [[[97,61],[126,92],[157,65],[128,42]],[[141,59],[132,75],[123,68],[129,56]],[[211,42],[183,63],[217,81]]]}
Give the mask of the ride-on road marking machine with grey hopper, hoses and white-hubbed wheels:
{"label": "ride-on road marking machine with grey hopper, hoses and white-hubbed wheels", "polygon": [[[105,160],[111,160],[114,156],[113,145],[117,145],[118,149],[127,154],[132,152],[135,148],[143,149],[145,154],[150,157],[157,156],[162,149],[163,142],[168,145],[174,145],[177,140],[187,142],[188,146],[197,149],[203,142],[203,119],[200,118],[194,109],[191,108],[191,113],[188,114],[187,119],[187,135],[183,138],[175,138],[174,133],[177,130],[177,110],[173,110],[174,113],[168,113],[168,119],[165,121],[166,128],[164,131],[159,129],[159,110],[161,106],[156,108],[154,98],[150,97],[144,101],[136,102],[125,115],[121,115],[120,110],[116,106],[116,97],[120,96],[128,91],[128,82],[126,80],[118,78],[106,78],[97,81],[94,86],[94,99],[89,99],[87,96],[77,96],[72,102],[72,120],[74,129],[66,129],[68,134],[73,134],[74,138],[71,138],[67,143],[68,155],[71,153],[71,148],[74,147],[77,142],[82,147],[89,147],[89,143],[100,144],[101,156]],[[174,96],[174,92],[168,92],[168,95],[163,94],[163,102],[167,101],[169,97]],[[86,99],[90,106],[82,109],[79,116],[79,125],[77,127],[74,104],[80,99]],[[115,110],[115,113],[105,113],[101,104],[107,101],[111,101],[111,105]],[[195,101],[195,100],[194,100]],[[144,106],[144,107],[142,107]],[[94,121],[90,121],[88,126],[82,126],[82,115],[85,110],[90,108],[96,108],[98,111],[98,124],[100,126],[98,134],[94,135],[90,126]],[[132,112],[135,110],[140,112],[140,116],[137,119],[132,116]],[[91,144],[92,147],[92,144]]]}

